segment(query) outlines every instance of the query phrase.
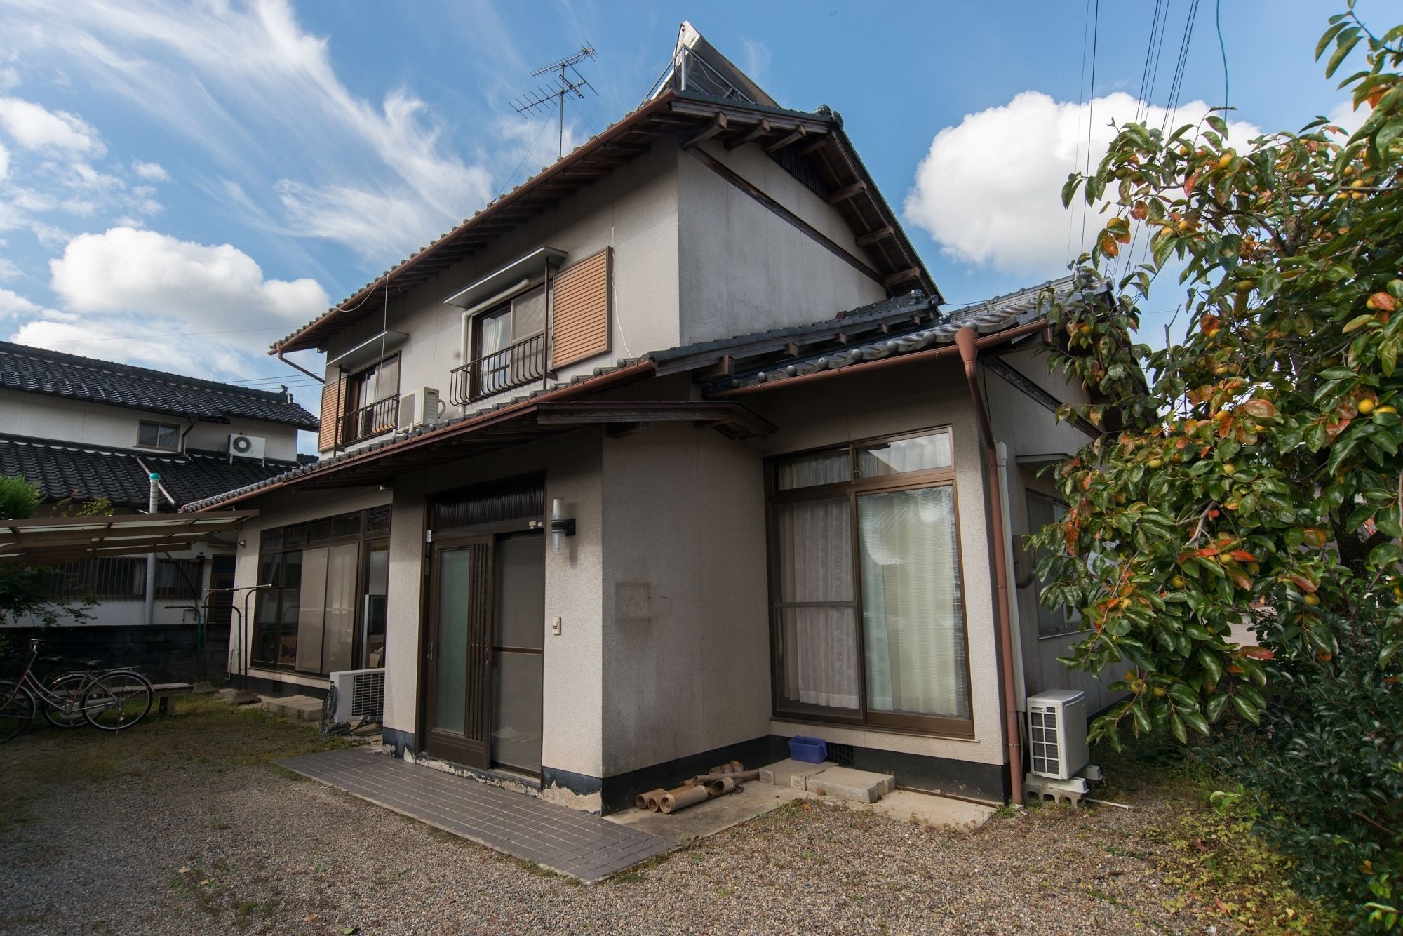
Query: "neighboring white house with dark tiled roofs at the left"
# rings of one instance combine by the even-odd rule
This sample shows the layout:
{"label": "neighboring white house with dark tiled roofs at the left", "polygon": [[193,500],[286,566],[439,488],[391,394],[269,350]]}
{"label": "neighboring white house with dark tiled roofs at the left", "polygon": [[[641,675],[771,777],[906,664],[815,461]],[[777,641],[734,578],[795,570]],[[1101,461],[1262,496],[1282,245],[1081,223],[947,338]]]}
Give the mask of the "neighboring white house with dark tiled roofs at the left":
{"label": "neighboring white house with dark tiled roofs at the left", "polygon": [[[43,512],[105,498],[114,514],[174,512],[302,462],[297,431],[317,428],[286,393],[0,342],[0,474],[43,494]],[[51,633],[55,650],[140,664],[163,678],[195,672],[196,615],[213,626],[205,678],[226,669],[236,543],[212,540],[157,557],[152,620],[146,559],[112,556],[53,567],[62,601],[93,599],[90,619]],[[198,610],[196,610],[198,609]],[[24,622],[21,622],[24,623]],[[216,672],[217,671],[217,672]]]}

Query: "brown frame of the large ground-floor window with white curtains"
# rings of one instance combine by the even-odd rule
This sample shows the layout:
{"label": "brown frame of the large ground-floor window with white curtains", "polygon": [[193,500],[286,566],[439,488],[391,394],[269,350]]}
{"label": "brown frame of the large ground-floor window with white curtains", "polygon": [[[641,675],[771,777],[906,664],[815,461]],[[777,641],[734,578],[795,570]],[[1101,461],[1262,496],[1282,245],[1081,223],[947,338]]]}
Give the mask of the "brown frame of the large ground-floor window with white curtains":
{"label": "brown frame of the large ground-floor window with white curtains", "polygon": [[[925,435],[946,434],[950,442],[950,467],[948,469],[922,469],[918,472],[902,472],[891,474],[877,474],[871,477],[859,477],[857,474],[857,457],[859,450],[867,446],[880,445],[884,442],[897,442],[901,439],[919,438]],[[777,469],[783,462],[787,462],[796,456],[801,455],[815,455],[819,452],[839,452],[846,449],[847,452],[847,466],[849,479],[846,481],[833,481],[829,484],[815,484],[811,487],[798,487],[779,490],[777,484]],[[765,459],[765,536],[766,536],[766,570],[769,575],[769,619],[770,619],[770,711],[776,721],[798,721],[798,723],[822,723],[822,724],[836,724],[847,727],[860,727],[866,730],[878,731],[898,731],[902,734],[926,734],[934,737],[951,737],[951,738],[972,738],[974,737],[974,693],[972,683],[969,678],[969,608],[968,608],[968,592],[965,591],[964,573],[964,547],[960,530],[960,491],[955,483],[955,445],[954,432],[950,425],[933,425],[920,429],[913,429],[909,432],[895,432],[891,435],[877,435],[863,439],[853,439],[850,442],[843,442],[839,445],[822,445],[811,449],[800,449],[797,452],[784,452],[780,455],[773,455]],[[964,681],[965,681],[965,697],[969,699],[969,717],[968,718],[951,718],[944,716],[909,716],[909,714],[895,714],[895,713],[873,713],[867,710],[867,643],[866,643],[866,624],[863,622],[863,585],[861,585],[861,556],[857,542],[857,498],[864,494],[878,494],[888,491],[909,491],[922,490],[927,487],[948,487],[951,494],[951,507],[954,515],[954,537],[955,537],[955,557],[958,563],[957,581],[960,585],[960,617],[961,630],[964,634],[964,651],[965,651],[965,665],[964,665]],[[850,560],[853,566],[853,596],[849,602],[818,602],[822,605],[832,606],[847,606],[853,608],[853,623],[857,629],[857,672],[859,672],[859,692],[857,692],[857,716],[838,716],[826,711],[803,710],[803,709],[786,709],[783,706],[783,699],[780,696],[780,653],[779,653],[779,633],[781,627],[781,612],[786,608],[804,606],[805,603],[812,606],[815,602],[781,602],[779,594],[780,581],[780,554],[777,547],[777,536],[774,529],[774,508],[783,504],[797,504],[804,501],[822,501],[822,500],[838,500],[847,498],[849,509],[849,529],[852,530],[850,539]]]}

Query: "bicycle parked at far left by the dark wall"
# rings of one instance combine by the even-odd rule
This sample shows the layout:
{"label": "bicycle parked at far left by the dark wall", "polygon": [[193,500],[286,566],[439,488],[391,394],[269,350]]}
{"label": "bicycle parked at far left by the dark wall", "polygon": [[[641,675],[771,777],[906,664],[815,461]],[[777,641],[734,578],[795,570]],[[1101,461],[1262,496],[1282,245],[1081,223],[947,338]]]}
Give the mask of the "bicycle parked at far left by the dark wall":
{"label": "bicycle parked at far left by the dark wall", "polygon": [[102,731],[122,731],[146,717],[152,710],[152,683],[132,669],[98,672],[100,661],[84,661],[87,669],[67,672],[45,686],[34,675],[41,641],[29,641],[29,660],[17,681],[0,681],[0,742],[17,737],[39,706],[45,717],[59,727],[74,727],[86,720]]}

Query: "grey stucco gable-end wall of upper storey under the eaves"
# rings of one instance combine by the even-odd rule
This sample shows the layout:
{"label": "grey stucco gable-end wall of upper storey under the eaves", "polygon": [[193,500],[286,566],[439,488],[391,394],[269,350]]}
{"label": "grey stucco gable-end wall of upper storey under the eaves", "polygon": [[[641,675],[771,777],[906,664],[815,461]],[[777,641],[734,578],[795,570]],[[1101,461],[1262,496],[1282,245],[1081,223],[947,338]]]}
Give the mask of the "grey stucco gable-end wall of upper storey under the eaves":
{"label": "grey stucco gable-end wall of upper storey under the eaves", "polygon": [[[838,209],[755,143],[703,147],[854,257],[864,257]],[[835,257],[713,173],[678,160],[682,342],[831,319],[887,296],[880,282]]]}

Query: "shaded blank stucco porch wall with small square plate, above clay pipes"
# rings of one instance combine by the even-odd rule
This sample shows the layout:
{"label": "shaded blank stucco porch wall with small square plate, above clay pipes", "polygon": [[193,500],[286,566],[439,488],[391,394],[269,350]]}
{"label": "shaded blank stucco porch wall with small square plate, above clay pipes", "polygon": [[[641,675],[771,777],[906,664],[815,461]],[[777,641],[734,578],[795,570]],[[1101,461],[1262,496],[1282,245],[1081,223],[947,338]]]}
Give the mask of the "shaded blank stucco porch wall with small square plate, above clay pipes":
{"label": "shaded blank stucco porch wall with small square plate, above clay pipes", "polygon": [[690,425],[603,441],[603,776],[769,734],[760,472]]}

